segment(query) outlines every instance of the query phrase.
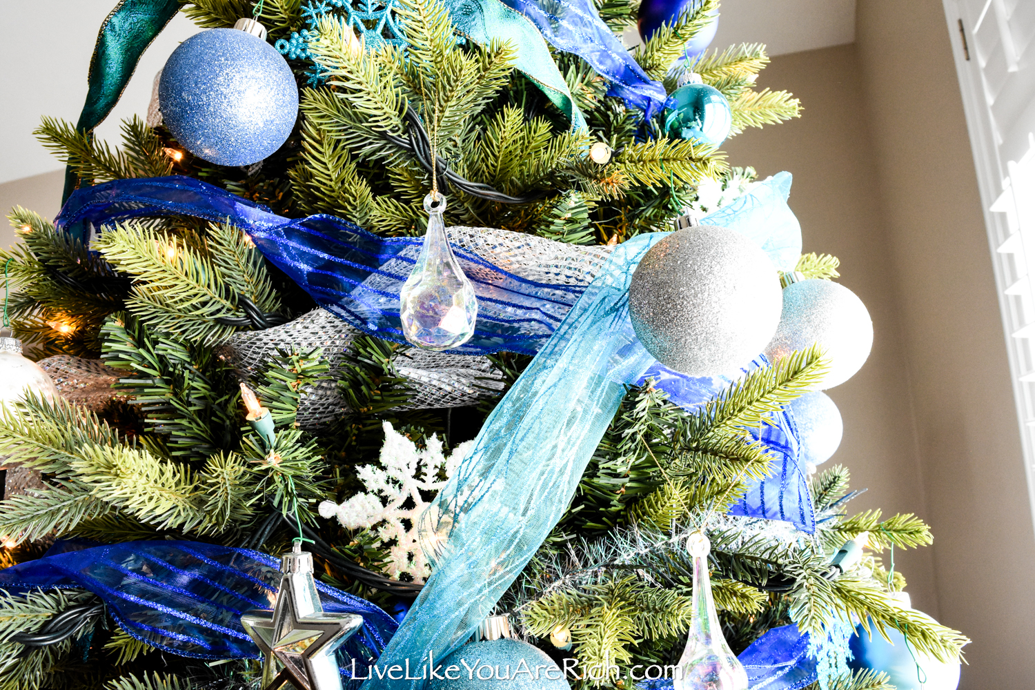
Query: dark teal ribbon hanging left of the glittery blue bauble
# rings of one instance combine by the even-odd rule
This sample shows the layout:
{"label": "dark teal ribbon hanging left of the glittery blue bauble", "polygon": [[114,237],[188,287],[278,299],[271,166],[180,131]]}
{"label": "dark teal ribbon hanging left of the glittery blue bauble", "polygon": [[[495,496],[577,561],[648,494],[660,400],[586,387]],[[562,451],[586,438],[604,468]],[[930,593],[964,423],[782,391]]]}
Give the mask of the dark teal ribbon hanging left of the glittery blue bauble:
{"label": "dark teal ribbon hanging left of the glittery blue bauble", "polygon": [[[89,90],[76,129],[91,132],[119,102],[140,56],[180,8],[179,0],[120,0],[97,32],[87,76]],[[79,186],[72,167],[65,170],[61,203]]]}

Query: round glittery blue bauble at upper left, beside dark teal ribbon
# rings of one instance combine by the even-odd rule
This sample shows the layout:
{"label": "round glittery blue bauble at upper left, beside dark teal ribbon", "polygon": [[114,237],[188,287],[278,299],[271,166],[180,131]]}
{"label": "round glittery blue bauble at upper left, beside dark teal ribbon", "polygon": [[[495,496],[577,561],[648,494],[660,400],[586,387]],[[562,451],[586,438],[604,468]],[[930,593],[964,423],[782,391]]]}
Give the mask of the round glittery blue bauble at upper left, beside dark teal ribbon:
{"label": "round glittery blue bauble at upper left, beside dark teal ribbon", "polygon": [[265,40],[238,29],[209,29],[169,56],[158,110],[190,153],[219,166],[250,166],[291,134],[298,86]]}

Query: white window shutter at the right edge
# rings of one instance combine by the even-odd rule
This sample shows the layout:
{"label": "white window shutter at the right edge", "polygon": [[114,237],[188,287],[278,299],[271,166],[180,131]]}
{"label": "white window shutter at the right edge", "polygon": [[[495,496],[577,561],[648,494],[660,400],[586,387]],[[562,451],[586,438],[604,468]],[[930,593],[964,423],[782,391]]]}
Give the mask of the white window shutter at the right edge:
{"label": "white window shutter at the right edge", "polygon": [[1035,515],[1035,0],[943,0]]}

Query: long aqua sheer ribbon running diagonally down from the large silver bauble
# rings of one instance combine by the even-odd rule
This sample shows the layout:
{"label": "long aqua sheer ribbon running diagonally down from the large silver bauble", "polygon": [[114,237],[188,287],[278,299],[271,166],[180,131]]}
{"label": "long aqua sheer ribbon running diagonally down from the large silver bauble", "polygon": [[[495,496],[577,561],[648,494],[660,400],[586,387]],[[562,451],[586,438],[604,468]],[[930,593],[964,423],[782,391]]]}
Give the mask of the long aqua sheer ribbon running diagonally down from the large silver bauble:
{"label": "long aqua sheer ribbon running diagonally down from the large silver bauble", "polygon": [[[629,323],[628,287],[668,233],[619,245],[490,415],[419,522],[434,573],[381,657],[420,676],[471,636],[557,524],[626,386],[653,363]],[[438,664],[438,662],[435,662]],[[364,690],[418,690],[371,679]]]}

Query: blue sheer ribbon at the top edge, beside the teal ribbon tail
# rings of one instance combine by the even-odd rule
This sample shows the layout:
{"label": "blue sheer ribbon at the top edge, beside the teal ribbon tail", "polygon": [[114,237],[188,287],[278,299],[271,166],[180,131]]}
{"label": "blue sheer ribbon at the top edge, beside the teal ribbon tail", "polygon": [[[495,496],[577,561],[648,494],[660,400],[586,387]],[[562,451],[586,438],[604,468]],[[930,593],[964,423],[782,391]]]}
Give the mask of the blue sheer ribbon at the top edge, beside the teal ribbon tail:
{"label": "blue sheer ribbon at the top edge, beside the teal ribbon tail", "polygon": [[664,108],[668,94],[608,28],[589,0],[502,0],[538,27],[554,48],[574,53],[611,82],[609,96],[652,117]]}

